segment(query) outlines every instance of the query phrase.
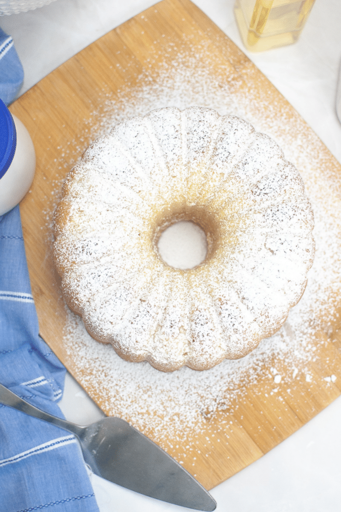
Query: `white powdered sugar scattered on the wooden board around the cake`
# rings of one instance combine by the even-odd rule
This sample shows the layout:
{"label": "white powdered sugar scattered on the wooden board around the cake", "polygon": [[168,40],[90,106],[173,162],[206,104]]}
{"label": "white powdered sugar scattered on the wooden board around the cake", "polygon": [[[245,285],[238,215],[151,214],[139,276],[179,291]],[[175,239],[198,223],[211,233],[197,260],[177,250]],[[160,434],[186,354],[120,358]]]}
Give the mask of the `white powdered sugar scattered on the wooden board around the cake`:
{"label": "white powdered sugar scattered on the wooden board around the cake", "polygon": [[[125,118],[164,106],[207,106],[221,115],[246,119],[256,131],[274,138],[285,158],[300,170],[314,211],[316,252],[307,288],[280,331],[242,359],[224,360],[203,372],[184,367],[163,373],[147,362],[126,362],[111,346],[92,339],[81,319],[68,311],[64,350],[77,380],[100,396],[107,414],[127,419],[145,433],[153,432],[153,438],[166,448],[167,439],[186,440],[205,431],[207,418],[235,407],[250,386],[268,381],[268,389],[277,386],[271,391],[276,393],[281,386],[286,389],[301,381],[311,382],[310,366],[318,359],[322,343],[319,333],[328,336],[333,332],[341,291],[340,177],[324,166],[319,139],[306,132],[302,121],[292,130],[291,110],[286,112],[282,106],[279,112],[278,105],[259,98],[252,88],[246,97],[234,68],[217,68],[204,45],[186,52],[170,51],[177,56],[172,62],[160,59],[155,76],[146,72],[134,87],[127,84],[115,97],[103,91],[101,108],[88,121],[91,139],[108,133]],[[326,369],[325,375],[330,374]],[[337,376],[332,377],[334,382]],[[329,380],[324,384],[330,386]]]}

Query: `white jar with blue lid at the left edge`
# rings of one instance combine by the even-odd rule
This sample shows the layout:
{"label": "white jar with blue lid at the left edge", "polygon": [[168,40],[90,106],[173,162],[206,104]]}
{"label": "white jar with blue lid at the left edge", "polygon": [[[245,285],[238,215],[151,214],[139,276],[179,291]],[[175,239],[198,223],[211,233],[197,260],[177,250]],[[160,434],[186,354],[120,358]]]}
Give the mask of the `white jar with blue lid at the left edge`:
{"label": "white jar with blue lid at the left edge", "polygon": [[32,139],[22,122],[0,100],[0,215],[27,194],[35,172]]}

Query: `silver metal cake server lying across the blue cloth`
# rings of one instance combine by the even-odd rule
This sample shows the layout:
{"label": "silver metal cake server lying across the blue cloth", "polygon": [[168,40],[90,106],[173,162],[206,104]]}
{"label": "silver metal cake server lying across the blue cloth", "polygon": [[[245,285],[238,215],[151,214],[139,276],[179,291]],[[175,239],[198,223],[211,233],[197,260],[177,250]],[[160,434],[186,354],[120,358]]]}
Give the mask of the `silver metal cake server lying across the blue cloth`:
{"label": "silver metal cake server lying across the blue cloth", "polygon": [[1,384],[0,403],[75,434],[86,464],[93,473],[110,482],[188,508],[216,508],[215,500],[192,475],[121,418],[76,425],[31,406]]}

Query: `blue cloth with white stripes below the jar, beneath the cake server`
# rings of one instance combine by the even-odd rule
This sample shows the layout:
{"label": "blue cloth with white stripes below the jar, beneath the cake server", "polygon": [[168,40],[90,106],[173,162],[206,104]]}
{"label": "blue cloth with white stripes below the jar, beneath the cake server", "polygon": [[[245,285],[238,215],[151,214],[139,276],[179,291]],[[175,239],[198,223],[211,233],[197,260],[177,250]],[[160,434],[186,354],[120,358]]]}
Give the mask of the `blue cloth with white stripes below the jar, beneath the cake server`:
{"label": "blue cloth with white stripes below the jar, beneath the cake server", "polygon": [[[38,334],[19,207],[0,217],[0,382],[63,417],[65,369]],[[73,435],[0,405],[0,510],[99,512]]]}

